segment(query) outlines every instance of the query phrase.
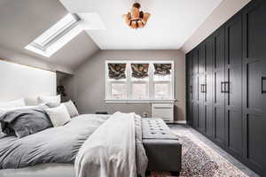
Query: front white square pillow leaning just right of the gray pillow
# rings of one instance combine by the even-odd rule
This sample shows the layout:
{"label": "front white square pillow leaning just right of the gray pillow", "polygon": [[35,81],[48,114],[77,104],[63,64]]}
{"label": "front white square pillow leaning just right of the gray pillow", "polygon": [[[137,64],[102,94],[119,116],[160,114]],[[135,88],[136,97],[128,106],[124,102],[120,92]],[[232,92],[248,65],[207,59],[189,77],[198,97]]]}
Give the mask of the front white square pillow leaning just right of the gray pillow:
{"label": "front white square pillow leaning just right of the gray pillow", "polygon": [[45,111],[49,115],[53,127],[64,126],[71,119],[64,104],[60,104],[56,108],[46,109]]}

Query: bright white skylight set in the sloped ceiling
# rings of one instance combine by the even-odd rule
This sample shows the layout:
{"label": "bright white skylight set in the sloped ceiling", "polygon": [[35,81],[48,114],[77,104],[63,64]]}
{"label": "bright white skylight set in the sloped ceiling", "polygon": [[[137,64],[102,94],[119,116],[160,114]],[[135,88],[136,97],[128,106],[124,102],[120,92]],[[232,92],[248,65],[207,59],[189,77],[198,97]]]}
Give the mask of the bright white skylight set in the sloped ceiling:
{"label": "bright white skylight set in the sloped ceiling", "polygon": [[46,30],[43,35],[29,43],[25,49],[44,57],[51,57],[52,54],[81,32],[81,28],[77,26],[79,20],[78,16],[68,13],[63,19],[60,19],[59,22]]}

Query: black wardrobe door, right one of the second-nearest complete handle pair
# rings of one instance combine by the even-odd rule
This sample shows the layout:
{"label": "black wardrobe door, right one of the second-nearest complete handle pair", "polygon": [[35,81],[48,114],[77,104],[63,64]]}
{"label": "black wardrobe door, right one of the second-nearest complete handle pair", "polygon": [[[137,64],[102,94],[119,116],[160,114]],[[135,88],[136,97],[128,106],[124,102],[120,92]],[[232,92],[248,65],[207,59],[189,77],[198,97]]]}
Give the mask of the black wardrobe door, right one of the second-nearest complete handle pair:
{"label": "black wardrobe door, right one of the second-nearest complete handle pair", "polygon": [[206,135],[213,135],[213,115],[212,115],[212,86],[213,86],[213,38],[206,41],[206,68],[205,68],[205,128]]}

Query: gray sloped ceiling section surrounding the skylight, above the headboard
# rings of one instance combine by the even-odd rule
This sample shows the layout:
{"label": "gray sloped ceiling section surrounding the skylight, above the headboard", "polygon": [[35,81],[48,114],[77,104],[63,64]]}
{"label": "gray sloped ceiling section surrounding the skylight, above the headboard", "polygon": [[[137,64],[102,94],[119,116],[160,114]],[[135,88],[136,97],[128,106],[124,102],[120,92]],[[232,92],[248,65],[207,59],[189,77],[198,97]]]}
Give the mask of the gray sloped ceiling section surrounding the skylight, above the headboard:
{"label": "gray sloped ceiling section surrounding the skylight, above the headboard", "polygon": [[75,68],[99,50],[85,32],[68,42],[51,58],[44,58],[24,49],[66,13],[65,7],[58,0],[1,0],[0,46],[50,63]]}

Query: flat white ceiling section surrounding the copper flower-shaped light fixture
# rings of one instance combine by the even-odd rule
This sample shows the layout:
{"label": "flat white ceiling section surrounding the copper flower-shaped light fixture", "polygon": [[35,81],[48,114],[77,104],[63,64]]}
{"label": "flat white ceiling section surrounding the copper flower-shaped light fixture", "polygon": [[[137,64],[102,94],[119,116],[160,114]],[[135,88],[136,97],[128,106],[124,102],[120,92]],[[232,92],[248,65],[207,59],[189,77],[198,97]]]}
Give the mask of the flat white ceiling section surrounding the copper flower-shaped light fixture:
{"label": "flat white ceiling section surrounding the copper flower-shaped light fixture", "polygon": [[68,12],[97,13],[106,30],[86,30],[101,50],[178,50],[223,0],[138,0],[151,13],[145,27],[129,28],[122,14],[133,0],[60,0]]}

